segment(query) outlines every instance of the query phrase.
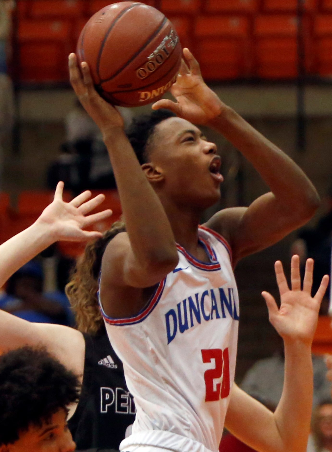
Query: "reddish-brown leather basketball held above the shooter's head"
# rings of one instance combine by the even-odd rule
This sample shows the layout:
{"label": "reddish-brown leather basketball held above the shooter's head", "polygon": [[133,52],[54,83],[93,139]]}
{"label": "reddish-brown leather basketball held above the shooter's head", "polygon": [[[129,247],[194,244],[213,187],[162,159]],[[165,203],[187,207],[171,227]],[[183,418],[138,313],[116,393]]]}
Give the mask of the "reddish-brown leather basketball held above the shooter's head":
{"label": "reddish-brown leather basketball held above the shooter's head", "polygon": [[171,22],[157,9],[123,1],[94,14],[77,46],[97,92],[122,107],[160,99],[175,82],[182,48]]}

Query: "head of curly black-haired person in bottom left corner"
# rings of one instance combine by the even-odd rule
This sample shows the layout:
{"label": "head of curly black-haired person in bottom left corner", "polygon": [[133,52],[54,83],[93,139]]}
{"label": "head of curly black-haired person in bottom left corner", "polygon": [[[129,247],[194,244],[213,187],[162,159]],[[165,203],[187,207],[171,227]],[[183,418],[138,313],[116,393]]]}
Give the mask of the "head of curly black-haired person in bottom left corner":
{"label": "head of curly black-haired person in bottom left corner", "polygon": [[73,372],[46,350],[23,347],[0,357],[0,452],[72,452],[68,406],[78,400]]}

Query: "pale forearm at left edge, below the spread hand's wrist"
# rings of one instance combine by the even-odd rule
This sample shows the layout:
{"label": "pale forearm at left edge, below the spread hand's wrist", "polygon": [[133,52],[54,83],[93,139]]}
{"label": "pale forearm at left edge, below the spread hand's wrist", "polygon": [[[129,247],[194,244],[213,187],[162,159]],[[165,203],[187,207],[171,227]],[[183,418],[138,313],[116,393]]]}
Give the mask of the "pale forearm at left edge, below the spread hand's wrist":
{"label": "pale forearm at left edge, below the spread hand's wrist", "polygon": [[36,222],[0,245],[0,287],[22,265],[54,241],[51,227]]}

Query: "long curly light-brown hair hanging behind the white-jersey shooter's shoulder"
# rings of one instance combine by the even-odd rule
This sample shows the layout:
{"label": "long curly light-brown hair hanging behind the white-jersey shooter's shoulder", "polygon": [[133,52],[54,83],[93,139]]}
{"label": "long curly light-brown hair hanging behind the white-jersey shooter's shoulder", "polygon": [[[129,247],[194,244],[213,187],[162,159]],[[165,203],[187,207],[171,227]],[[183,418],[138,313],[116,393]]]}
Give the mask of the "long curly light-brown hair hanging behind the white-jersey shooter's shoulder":
{"label": "long curly light-brown hair hanging behind the white-jersey shooter's shoulder", "polygon": [[88,243],[66,285],[65,292],[75,313],[77,328],[83,333],[98,334],[105,328],[98,303],[101,259],[107,244],[124,231],[124,222],[116,221],[102,237]]}

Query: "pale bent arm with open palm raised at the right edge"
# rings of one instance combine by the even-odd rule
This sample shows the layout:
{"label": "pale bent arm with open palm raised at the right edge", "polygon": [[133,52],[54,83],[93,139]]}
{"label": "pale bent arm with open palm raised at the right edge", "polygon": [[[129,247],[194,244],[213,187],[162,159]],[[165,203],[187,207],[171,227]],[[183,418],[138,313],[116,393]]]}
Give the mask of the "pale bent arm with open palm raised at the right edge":
{"label": "pale bent arm with open palm raised at the right edge", "polygon": [[290,290],[281,262],[276,262],[279,309],[272,295],[262,293],[269,319],[285,345],[284,386],[276,411],[272,413],[236,385],[231,393],[225,426],[258,452],[306,451],[313,400],[311,344],[329,279],[323,277],[312,298],[313,266],[313,259],[308,259],[301,290],[299,257],[293,256]]}

